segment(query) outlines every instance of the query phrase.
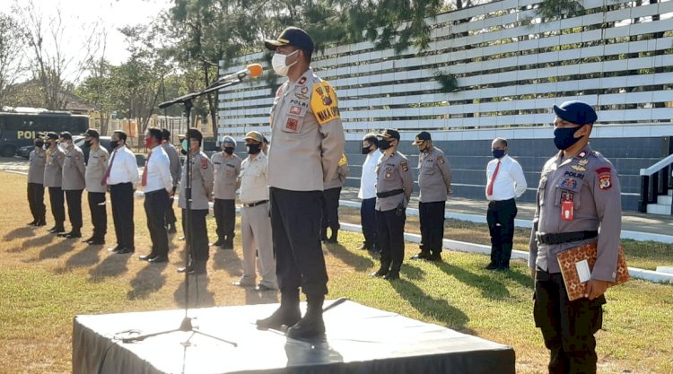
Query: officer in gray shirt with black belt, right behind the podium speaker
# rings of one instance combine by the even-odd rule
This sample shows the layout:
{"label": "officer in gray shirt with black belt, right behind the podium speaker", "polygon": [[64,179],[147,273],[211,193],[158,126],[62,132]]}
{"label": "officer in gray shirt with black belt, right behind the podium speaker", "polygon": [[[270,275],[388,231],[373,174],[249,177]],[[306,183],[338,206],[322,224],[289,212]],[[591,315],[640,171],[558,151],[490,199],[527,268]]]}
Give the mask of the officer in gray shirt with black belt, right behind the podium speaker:
{"label": "officer in gray shirt with black belt, right behind the podium speaker", "polygon": [[396,152],[397,130],[388,129],[378,135],[383,155],[376,165],[376,226],[379,237],[380,268],[371,276],[399,279],[405,256],[406,205],[414,189],[414,175],[405,155]]}

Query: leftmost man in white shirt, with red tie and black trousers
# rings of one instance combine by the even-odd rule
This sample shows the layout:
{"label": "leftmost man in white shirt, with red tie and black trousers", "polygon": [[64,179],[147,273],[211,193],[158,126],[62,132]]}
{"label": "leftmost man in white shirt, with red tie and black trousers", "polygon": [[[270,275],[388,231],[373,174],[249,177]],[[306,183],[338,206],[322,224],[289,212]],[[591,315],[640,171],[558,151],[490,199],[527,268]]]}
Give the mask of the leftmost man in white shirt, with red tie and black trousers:
{"label": "leftmost man in white shirt, with red tie and black trousers", "polygon": [[110,136],[109,144],[114,151],[109,157],[108,170],[105,170],[101,184],[109,187],[117,247],[108,250],[125,255],[135,252],[133,194],[140,178],[135,155],[127,148],[127,133],[116,130]]}

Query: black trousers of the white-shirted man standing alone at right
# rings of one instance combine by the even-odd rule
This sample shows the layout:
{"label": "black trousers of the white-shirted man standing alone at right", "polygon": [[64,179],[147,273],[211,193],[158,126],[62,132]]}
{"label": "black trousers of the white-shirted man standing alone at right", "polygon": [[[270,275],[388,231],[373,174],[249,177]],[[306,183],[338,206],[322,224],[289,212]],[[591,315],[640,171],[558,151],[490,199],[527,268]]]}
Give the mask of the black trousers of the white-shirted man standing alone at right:
{"label": "black trousers of the white-shirted man standing alone at right", "polygon": [[491,233],[491,264],[509,267],[514,239],[514,217],[517,216],[514,199],[488,203],[486,222]]}

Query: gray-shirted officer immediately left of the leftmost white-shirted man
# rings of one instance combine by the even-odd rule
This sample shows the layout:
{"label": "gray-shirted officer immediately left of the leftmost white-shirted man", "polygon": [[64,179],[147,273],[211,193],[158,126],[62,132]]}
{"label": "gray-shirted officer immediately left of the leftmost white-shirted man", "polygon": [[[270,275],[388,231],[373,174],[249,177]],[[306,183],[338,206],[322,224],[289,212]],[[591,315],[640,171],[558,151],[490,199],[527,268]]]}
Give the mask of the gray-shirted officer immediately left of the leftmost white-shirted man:
{"label": "gray-shirted officer immediately left of the leftmost white-shirted man", "polygon": [[86,163],[84,179],[93,225],[91,238],[85,239],[83,242],[91,245],[101,245],[105,244],[105,234],[108,231],[108,212],[105,207],[107,188],[101,185],[101,179],[105,175],[105,170],[108,169],[109,152],[105,147],[101,147],[101,135],[95,128],[86,130],[83,136],[84,142],[89,145],[89,161]]}

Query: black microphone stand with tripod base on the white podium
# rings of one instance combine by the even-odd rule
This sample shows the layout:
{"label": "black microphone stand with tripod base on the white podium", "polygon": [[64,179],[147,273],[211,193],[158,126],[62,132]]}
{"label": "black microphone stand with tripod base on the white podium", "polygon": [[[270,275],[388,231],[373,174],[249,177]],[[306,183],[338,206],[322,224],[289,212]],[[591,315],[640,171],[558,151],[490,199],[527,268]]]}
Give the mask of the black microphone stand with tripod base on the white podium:
{"label": "black microphone stand with tripod base on the white podium", "polygon": [[187,239],[187,248],[188,250],[185,251],[185,317],[182,319],[182,323],[180,323],[180,326],[178,328],[172,329],[172,330],[167,330],[167,331],[162,331],[158,333],[153,333],[153,334],[146,334],[146,335],[138,335],[138,336],[129,336],[126,338],[122,338],[121,342],[122,343],[135,343],[135,342],[141,342],[144,339],[152,336],[157,336],[157,335],[164,335],[164,334],[170,334],[170,333],[175,333],[178,331],[184,331],[184,332],[191,332],[192,334],[189,335],[188,339],[183,342],[182,344],[184,346],[190,345],[189,341],[191,338],[196,335],[205,335],[210,338],[213,338],[217,341],[226,343],[226,344],[232,344],[234,347],[238,347],[239,344],[236,344],[234,342],[230,342],[228,340],[224,340],[223,338],[214,336],[214,335],[209,335],[205,334],[204,332],[198,331],[194,329],[194,326],[192,325],[192,318],[188,316],[188,311],[189,311],[189,260],[191,257],[192,261],[194,260],[194,247],[192,246],[193,240],[194,240],[194,235],[192,232],[192,222],[191,222],[191,205],[192,205],[192,168],[191,168],[191,162],[192,162],[192,152],[191,152],[191,140],[192,137],[189,136],[189,121],[191,118],[191,109],[193,107],[193,102],[192,100],[196,99],[199,96],[203,96],[207,93],[210,93],[212,91],[217,91],[220,90],[224,87],[229,87],[234,84],[238,84],[242,82],[242,78],[239,76],[237,80],[234,81],[228,81],[228,82],[223,82],[223,83],[218,83],[215,82],[205,88],[202,91],[197,91],[197,92],[191,92],[188,93],[187,95],[180,96],[179,98],[169,100],[169,101],[164,101],[161,104],[159,104],[159,109],[164,109],[168,108],[172,105],[175,104],[183,104],[185,106],[185,113],[187,114],[187,144],[188,144],[188,149],[187,151],[187,159],[185,160],[187,164],[187,175],[185,176],[185,203],[187,205],[187,208],[185,209],[185,236]]}

